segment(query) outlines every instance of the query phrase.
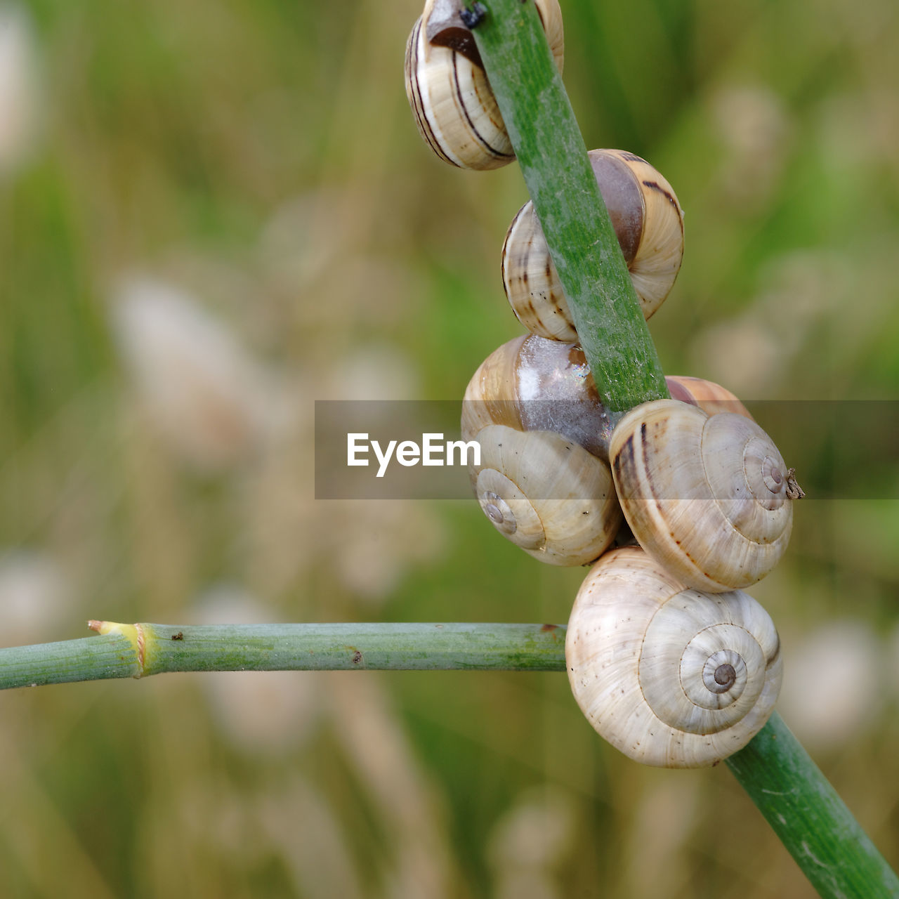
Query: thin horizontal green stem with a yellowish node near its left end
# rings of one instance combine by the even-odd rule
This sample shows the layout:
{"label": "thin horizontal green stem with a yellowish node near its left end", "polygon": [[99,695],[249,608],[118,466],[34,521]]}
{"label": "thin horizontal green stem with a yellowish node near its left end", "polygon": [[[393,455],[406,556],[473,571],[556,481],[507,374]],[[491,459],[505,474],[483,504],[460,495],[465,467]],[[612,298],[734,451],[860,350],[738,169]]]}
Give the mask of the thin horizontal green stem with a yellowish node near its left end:
{"label": "thin horizontal green stem with a yellowish node near its left end", "polygon": [[92,627],[100,636],[0,649],[0,689],[163,672],[565,670],[565,628],[556,625]]}

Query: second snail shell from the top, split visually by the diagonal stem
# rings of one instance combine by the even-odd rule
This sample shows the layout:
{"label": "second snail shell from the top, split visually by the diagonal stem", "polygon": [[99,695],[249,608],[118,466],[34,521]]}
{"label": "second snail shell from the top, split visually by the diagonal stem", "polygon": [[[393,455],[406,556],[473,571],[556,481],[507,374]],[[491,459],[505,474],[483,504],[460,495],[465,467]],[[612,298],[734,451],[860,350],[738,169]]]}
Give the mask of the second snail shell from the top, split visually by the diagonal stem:
{"label": "second snail shell from the top, split visually by the diagonal stem", "polygon": [[[645,159],[622,150],[588,154],[645,318],[672,289],[683,255],[683,213],[669,184]],[[533,334],[577,342],[574,319],[530,200],[503,245],[503,285]]]}

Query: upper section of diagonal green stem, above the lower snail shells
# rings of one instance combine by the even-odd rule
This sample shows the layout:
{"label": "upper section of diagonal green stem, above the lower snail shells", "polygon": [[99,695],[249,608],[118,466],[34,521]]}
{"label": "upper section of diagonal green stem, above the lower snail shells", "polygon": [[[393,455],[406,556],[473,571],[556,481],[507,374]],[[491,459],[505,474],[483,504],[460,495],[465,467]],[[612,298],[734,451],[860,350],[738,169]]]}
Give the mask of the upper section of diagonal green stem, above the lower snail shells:
{"label": "upper section of diagonal green stem, above the lower snail shells", "polygon": [[477,49],[565,289],[603,404],[613,417],[669,395],[537,8],[490,0]]}

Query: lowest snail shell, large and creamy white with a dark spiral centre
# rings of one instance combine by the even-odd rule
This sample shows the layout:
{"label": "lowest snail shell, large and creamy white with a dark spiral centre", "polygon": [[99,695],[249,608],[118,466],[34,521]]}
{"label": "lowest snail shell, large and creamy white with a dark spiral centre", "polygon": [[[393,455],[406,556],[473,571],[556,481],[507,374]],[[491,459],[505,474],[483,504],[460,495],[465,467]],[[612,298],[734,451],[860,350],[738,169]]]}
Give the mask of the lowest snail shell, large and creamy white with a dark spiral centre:
{"label": "lowest snail shell, large and creamy white with a dark spiral centre", "polygon": [[685,589],[639,547],[593,565],[565,636],[574,699],[635,761],[717,764],[765,724],[780,690],[779,637],[741,591]]}

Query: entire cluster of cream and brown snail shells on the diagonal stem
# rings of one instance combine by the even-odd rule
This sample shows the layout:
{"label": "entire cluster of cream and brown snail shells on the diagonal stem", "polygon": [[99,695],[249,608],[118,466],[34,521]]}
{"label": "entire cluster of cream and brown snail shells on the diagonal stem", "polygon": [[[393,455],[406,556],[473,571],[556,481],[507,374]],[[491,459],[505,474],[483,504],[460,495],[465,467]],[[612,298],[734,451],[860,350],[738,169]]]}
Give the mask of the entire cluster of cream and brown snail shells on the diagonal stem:
{"label": "entire cluster of cream and brown snail shells on the diagonal stem", "polygon": [[[537,6],[561,70],[561,13],[555,0]],[[427,0],[405,74],[441,159],[476,169],[512,160],[458,4]],[[680,269],[680,204],[639,156],[589,156],[648,319]],[[477,500],[530,556],[592,563],[565,659],[596,730],[647,764],[716,764],[761,729],[779,692],[777,631],[742,588],[787,546],[802,495],[793,471],[733,394],[699,378],[666,378],[671,399],[607,412],[530,202],[512,220],[502,267],[529,334],[493,352],[466,390],[463,439],[481,447],[470,468]]]}

